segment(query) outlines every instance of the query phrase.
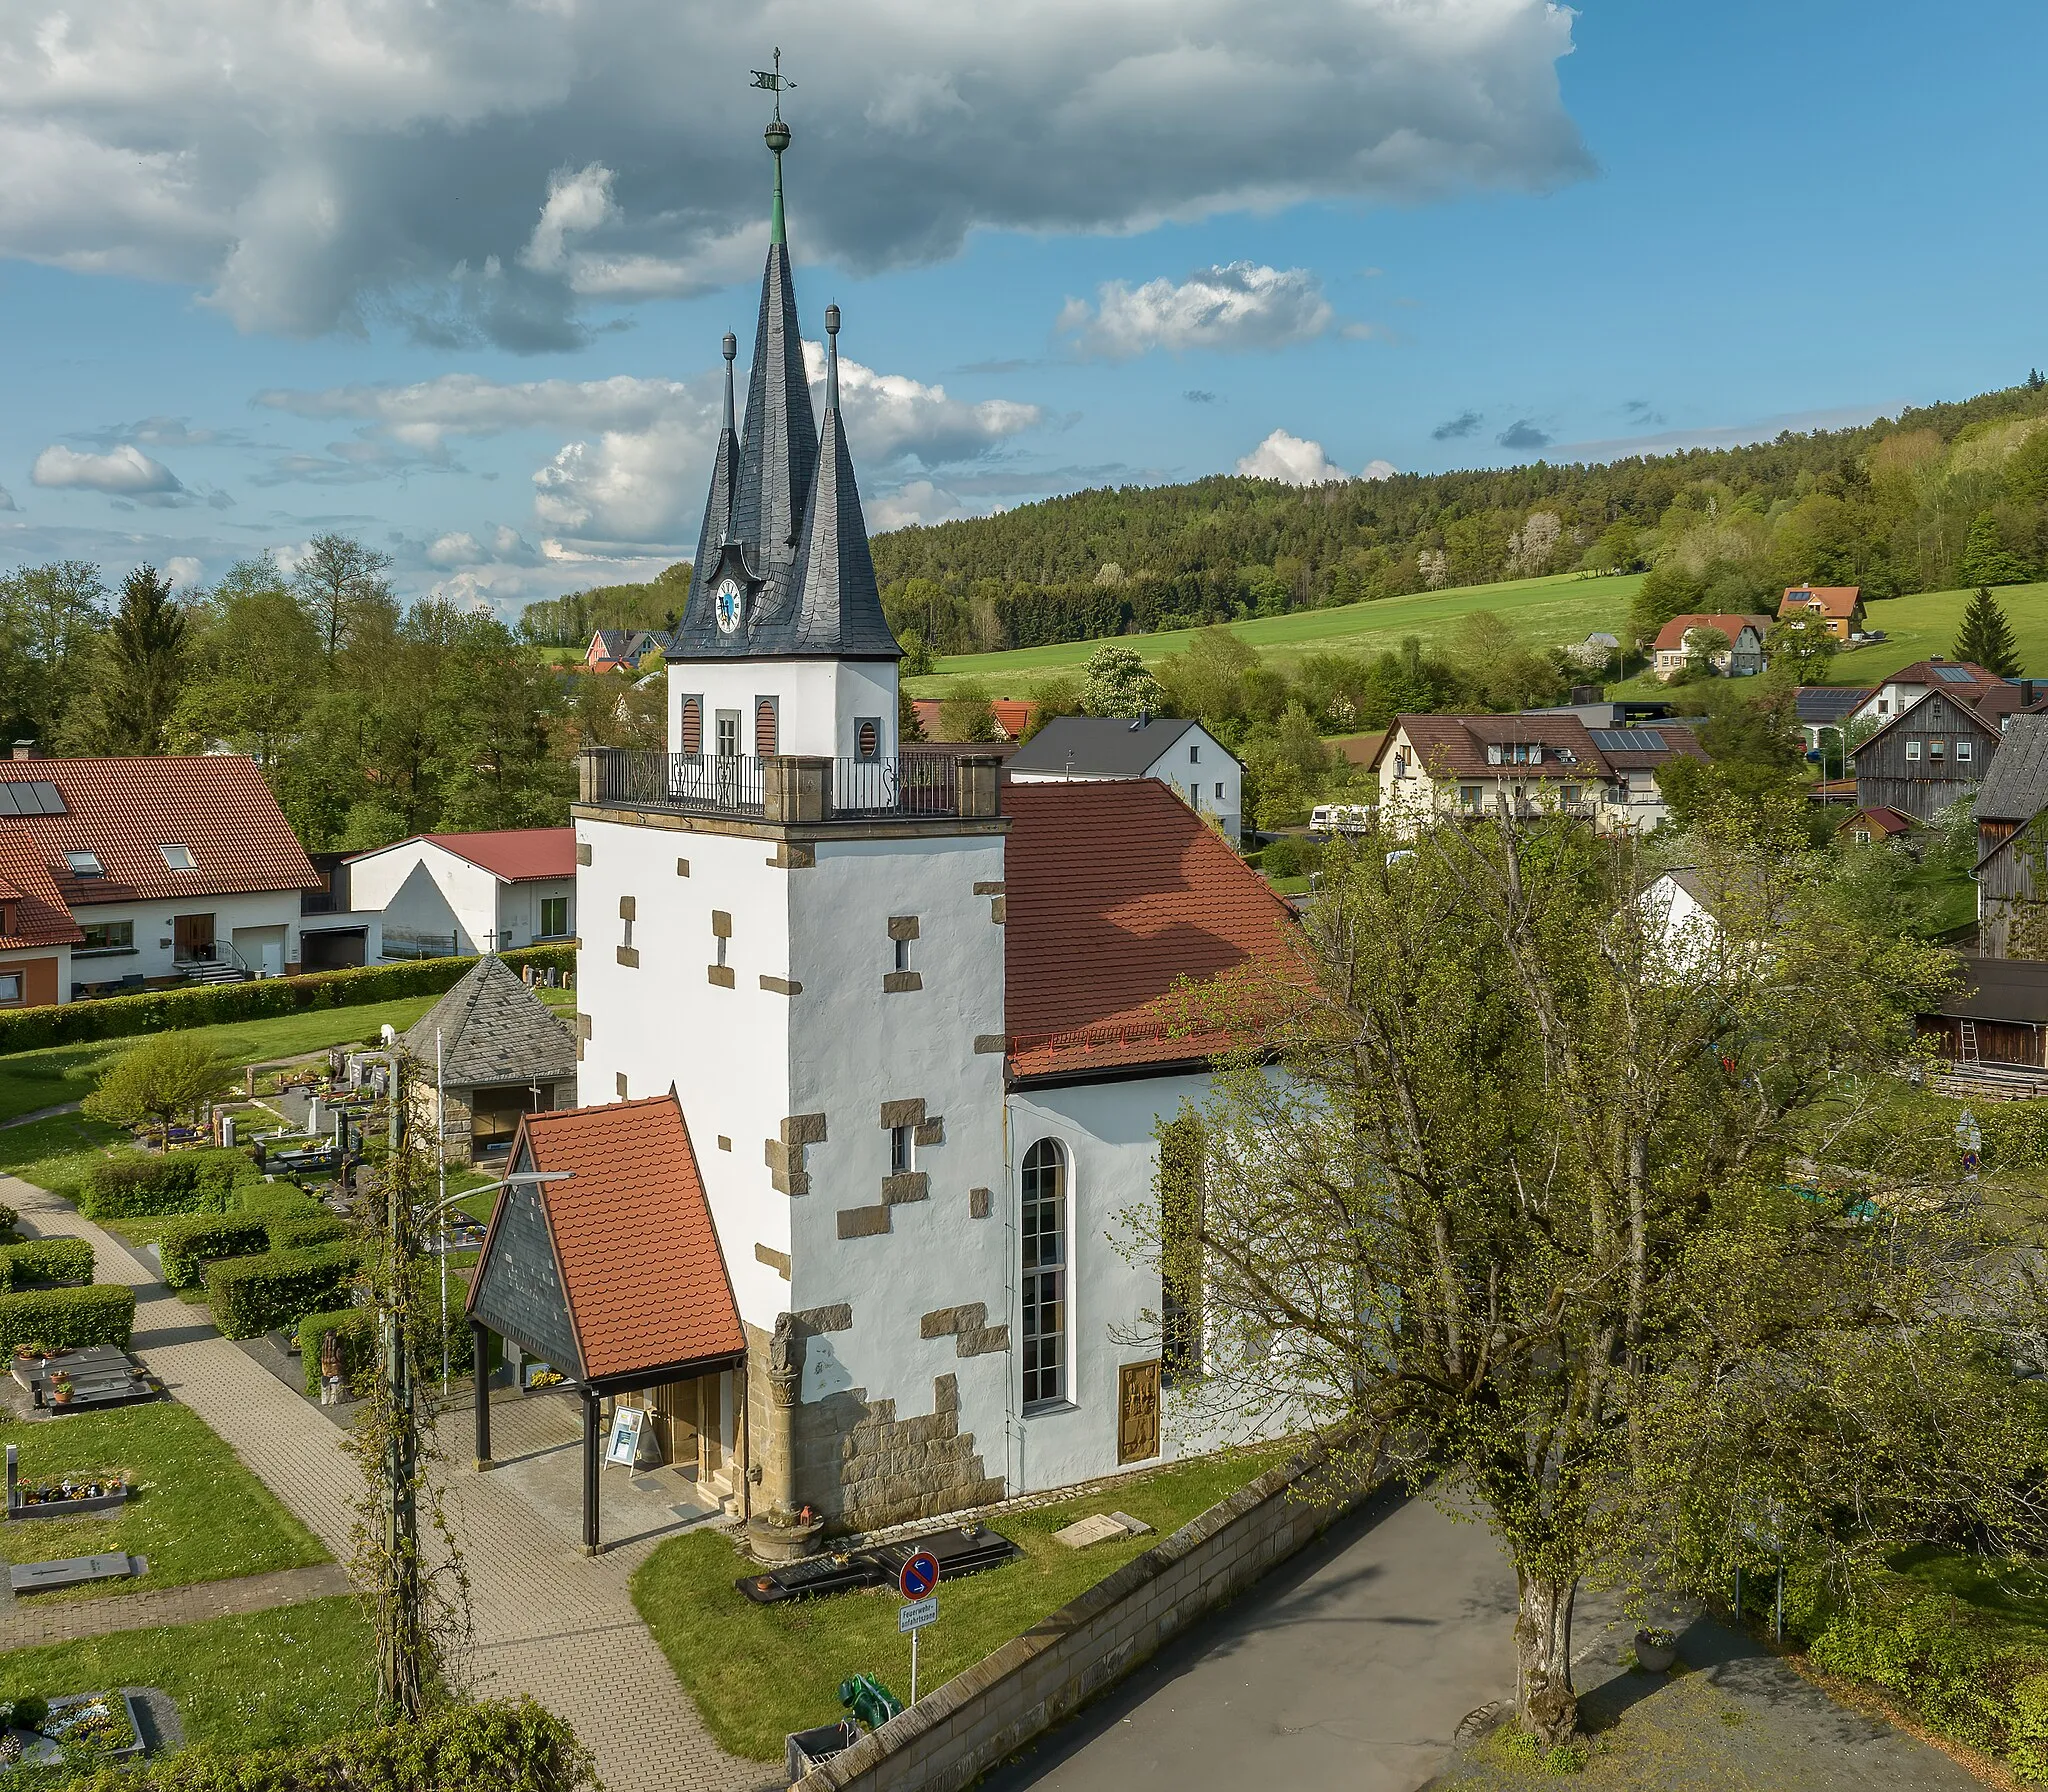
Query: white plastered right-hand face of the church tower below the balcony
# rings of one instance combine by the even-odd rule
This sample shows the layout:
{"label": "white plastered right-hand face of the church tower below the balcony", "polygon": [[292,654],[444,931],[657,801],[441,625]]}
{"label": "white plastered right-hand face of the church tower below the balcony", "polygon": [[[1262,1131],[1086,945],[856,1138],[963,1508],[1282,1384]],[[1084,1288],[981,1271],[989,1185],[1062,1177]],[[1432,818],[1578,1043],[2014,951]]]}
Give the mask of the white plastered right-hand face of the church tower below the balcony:
{"label": "white plastered right-hand face of the church tower below the balcony", "polygon": [[[827,1118],[825,1141],[805,1151],[809,1194],[786,1202],[788,1305],[846,1303],[854,1321],[809,1339],[803,1399],[862,1389],[909,1419],[932,1411],[934,1378],[952,1374],[961,1430],[975,1434],[987,1475],[1004,1473],[1010,1358],[963,1358],[952,1335],[922,1337],[920,1315],[979,1300],[989,1325],[1004,1323],[1004,1055],[975,1051],[1004,1030],[1004,928],[993,895],[975,893],[1001,877],[997,834],[819,842],[817,864],[788,872],[803,983],[791,1001],[791,1112]],[[918,918],[909,969],[920,989],[883,989],[893,915]],[[887,1233],[842,1239],[842,1210],[883,1204],[881,1108],[907,1100],[944,1120],[944,1143],[918,1147],[928,1198],[889,1206]],[[975,1188],[991,1192],[989,1219],[971,1217]]]}

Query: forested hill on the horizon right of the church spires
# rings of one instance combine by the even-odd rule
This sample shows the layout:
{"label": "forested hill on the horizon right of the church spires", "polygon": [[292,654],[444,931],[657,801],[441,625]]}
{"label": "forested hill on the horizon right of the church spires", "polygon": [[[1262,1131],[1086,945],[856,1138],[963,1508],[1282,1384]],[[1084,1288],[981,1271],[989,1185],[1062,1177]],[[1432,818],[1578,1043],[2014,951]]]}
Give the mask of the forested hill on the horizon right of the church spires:
{"label": "forested hill on the horizon right of the church spires", "polygon": [[874,537],[891,621],[938,653],[1028,647],[1434,586],[1665,569],[1747,610],[1802,580],[1872,596],[2048,569],[2048,381],[1604,465],[1077,492]]}

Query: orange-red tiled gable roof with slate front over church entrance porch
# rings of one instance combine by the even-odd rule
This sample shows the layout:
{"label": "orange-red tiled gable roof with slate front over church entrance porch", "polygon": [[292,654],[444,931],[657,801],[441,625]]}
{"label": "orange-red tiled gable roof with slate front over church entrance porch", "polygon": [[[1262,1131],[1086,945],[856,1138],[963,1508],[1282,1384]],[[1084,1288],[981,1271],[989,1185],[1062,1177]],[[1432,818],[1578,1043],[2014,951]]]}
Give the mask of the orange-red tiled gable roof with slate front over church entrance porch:
{"label": "orange-red tiled gable roof with slate front over church entrance porch", "polygon": [[[748,1339],[705,1180],[674,1094],[602,1108],[526,1114],[516,1169],[569,1171],[498,1196],[469,1311],[492,1331],[541,1348],[586,1382],[690,1370],[745,1354]],[[553,1284],[553,1286],[549,1286]],[[528,1307],[567,1319],[537,1337]],[[573,1362],[561,1360],[567,1343]]]}

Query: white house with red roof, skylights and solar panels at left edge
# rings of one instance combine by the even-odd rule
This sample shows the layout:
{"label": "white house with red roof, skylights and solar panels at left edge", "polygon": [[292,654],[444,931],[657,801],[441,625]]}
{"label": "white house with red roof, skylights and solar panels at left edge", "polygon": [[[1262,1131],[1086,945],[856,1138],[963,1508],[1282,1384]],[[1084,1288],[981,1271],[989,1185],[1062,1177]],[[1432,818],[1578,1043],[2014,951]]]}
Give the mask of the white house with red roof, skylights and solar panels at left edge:
{"label": "white house with red roof, skylights and solar panels at left edge", "polygon": [[[0,760],[0,825],[16,836],[18,913],[41,915],[55,891],[78,928],[55,1001],[299,969],[299,899],[319,874],[254,760]],[[39,969],[33,987],[49,979]]]}

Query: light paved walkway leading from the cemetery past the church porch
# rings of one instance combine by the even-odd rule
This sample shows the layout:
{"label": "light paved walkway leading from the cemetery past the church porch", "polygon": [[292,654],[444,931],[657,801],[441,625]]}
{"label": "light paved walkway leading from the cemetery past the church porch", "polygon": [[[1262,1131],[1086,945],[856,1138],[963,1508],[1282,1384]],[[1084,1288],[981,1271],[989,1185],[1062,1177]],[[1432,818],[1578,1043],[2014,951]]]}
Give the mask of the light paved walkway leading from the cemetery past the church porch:
{"label": "light paved walkway leading from the cemetery past the church porch", "polygon": [[[201,1309],[178,1300],[70,1202],[18,1178],[0,1178],[0,1202],[20,1210],[31,1235],[92,1241],[98,1280],[135,1288],[135,1354],[346,1561],[360,1481],[319,1409],[223,1339]],[[494,1407],[494,1427],[498,1413]],[[516,1413],[506,1411],[506,1454],[520,1448]],[[528,1423],[541,1421],[535,1413]],[[567,1718],[596,1753],[606,1792],[752,1792],[780,1782],[780,1774],[737,1761],[711,1741],[633,1610],[627,1583],[651,1538],[586,1561],[512,1485],[455,1468],[467,1464],[467,1448],[449,1454],[451,1511],[471,1575],[477,1692],[532,1694]]]}

